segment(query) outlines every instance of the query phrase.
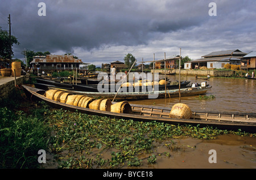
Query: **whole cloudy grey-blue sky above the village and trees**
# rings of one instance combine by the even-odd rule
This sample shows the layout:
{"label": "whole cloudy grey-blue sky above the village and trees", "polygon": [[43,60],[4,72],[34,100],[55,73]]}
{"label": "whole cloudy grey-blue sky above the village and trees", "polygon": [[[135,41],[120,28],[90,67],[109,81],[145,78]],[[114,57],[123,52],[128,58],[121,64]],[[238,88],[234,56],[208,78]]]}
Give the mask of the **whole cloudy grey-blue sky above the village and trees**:
{"label": "whole cloudy grey-blue sky above the village and trees", "polygon": [[[40,2],[46,16],[39,16]],[[216,16],[210,16],[216,3]],[[197,59],[218,50],[256,50],[256,1],[248,0],[0,0],[0,27],[20,45],[51,54],[72,53],[86,63],[141,61],[181,55]],[[41,11],[42,12],[42,11]]]}

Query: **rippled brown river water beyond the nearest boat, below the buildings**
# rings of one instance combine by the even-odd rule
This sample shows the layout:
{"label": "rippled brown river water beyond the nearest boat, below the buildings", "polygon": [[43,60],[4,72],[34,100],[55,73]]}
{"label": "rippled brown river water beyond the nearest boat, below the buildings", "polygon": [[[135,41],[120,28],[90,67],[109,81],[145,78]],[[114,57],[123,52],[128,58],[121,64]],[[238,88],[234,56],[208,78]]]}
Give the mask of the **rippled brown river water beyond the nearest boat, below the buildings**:
{"label": "rippled brown river water beyond the nearest boat, below the buildings", "polygon": [[[164,78],[159,75],[159,78]],[[167,75],[174,81],[179,76]],[[181,81],[188,80],[191,83],[205,82],[204,79],[196,79],[194,76],[181,76]],[[240,78],[212,77],[207,80],[212,85],[205,95],[214,95],[213,100],[197,100],[198,96],[181,97],[181,102],[187,104],[191,110],[212,110],[225,112],[256,112],[256,80]],[[130,101],[133,104],[168,106],[179,103],[179,97]]]}

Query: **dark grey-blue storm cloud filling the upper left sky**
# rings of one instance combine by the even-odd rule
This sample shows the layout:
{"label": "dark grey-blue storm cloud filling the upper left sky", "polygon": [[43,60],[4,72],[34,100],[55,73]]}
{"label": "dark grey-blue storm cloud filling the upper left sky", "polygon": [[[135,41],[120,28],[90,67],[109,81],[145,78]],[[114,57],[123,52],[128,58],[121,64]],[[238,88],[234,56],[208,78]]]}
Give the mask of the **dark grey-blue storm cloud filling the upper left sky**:
{"label": "dark grey-blue storm cloud filling the upper left sky", "polygon": [[[11,14],[22,49],[64,50],[101,45],[147,44],[154,32],[170,32],[201,23],[188,17],[188,3],[158,1],[43,1],[46,16],[39,16],[41,1],[4,1],[2,14]],[[168,1],[167,1],[168,2]],[[185,7],[185,8],[184,8]]]}

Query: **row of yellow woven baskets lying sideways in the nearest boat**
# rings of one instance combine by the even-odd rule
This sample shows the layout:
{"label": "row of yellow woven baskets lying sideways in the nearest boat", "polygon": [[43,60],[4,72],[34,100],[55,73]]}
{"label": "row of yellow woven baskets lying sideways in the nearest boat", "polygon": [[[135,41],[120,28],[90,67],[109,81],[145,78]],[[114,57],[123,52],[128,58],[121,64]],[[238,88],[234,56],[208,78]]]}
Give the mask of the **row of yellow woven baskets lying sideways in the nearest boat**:
{"label": "row of yellow woven baskets lying sideways in the nearest boat", "polygon": [[95,110],[103,110],[115,113],[132,113],[131,106],[129,102],[122,101],[112,104],[108,98],[96,100],[93,97],[88,97],[85,95],[72,95],[71,93],[61,91],[59,89],[50,89],[46,91],[46,97],[62,102],[68,105],[79,106],[82,108],[89,108]]}

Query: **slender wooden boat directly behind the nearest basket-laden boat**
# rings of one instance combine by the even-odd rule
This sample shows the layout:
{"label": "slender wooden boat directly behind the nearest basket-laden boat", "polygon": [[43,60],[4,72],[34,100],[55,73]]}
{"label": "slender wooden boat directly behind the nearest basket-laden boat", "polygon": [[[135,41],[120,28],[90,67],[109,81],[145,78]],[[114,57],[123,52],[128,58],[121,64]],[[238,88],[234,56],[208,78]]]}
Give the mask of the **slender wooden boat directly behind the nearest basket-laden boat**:
{"label": "slender wooden boat directly behind the nearest basket-laden boat", "polygon": [[[195,88],[181,88],[180,89],[180,96],[195,96],[195,95],[203,95],[205,94],[210,88],[210,85],[207,87],[195,87]],[[61,88],[54,88],[49,87],[49,89],[61,89]],[[72,91],[68,89],[61,89],[62,91],[67,91],[70,93],[74,93],[77,95],[86,95],[92,96],[96,98],[109,98],[113,100],[144,100],[148,98],[164,98],[166,97],[179,97],[179,89],[171,89],[167,91],[151,91],[151,92],[85,92],[85,91]]]}

